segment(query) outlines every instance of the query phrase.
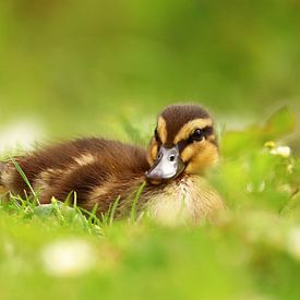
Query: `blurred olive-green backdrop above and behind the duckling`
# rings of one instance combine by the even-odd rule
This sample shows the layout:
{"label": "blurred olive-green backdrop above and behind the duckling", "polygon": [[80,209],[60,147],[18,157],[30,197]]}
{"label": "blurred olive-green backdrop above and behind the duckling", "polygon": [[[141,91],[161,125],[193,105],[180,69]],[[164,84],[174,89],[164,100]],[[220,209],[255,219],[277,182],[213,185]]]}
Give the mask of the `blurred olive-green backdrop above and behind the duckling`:
{"label": "blurred olive-green backdrop above and behind the duckling", "polygon": [[260,121],[300,106],[300,1],[0,2],[0,120],[120,137],[172,103]]}

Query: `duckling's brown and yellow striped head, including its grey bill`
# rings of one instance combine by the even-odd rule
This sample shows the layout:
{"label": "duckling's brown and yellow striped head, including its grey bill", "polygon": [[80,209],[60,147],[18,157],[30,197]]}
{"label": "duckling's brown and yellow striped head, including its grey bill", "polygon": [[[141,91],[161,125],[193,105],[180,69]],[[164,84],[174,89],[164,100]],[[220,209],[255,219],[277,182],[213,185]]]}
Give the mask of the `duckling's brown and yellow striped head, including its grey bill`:
{"label": "duckling's brown and yellow striped head, including its grey bill", "polygon": [[218,145],[209,113],[197,105],[173,105],[157,118],[151,140],[146,177],[153,183],[181,173],[202,173],[218,160]]}

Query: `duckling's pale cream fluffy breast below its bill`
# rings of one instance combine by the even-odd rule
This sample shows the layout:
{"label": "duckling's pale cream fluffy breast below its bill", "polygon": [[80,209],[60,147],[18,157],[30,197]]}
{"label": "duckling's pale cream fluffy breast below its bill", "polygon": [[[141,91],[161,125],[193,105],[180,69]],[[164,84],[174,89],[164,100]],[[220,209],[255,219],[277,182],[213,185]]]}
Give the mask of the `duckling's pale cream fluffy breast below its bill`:
{"label": "duckling's pale cream fluffy breast below its bill", "polygon": [[199,224],[212,218],[225,208],[220,195],[201,176],[184,176],[179,181],[166,184],[156,193],[148,191],[146,209],[158,221],[166,225]]}

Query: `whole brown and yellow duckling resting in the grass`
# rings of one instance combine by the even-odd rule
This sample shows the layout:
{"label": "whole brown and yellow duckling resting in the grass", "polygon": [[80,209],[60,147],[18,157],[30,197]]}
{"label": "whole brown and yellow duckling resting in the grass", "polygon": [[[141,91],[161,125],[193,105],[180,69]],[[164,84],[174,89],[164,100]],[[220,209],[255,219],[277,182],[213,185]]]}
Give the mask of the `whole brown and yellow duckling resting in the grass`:
{"label": "whole brown and yellow duckling resting in the grass", "polygon": [[[130,215],[143,184],[137,213],[164,224],[199,223],[225,208],[204,173],[218,160],[209,113],[197,105],[172,105],[158,117],[147,149],[104,139],[80,139],[15,158],[39,202],[64,201],[76,192],[77,205],[106,213],[119,199],[116,214]],[[0,164],[0,183],[13,194],[31,190],[12,163]]]}

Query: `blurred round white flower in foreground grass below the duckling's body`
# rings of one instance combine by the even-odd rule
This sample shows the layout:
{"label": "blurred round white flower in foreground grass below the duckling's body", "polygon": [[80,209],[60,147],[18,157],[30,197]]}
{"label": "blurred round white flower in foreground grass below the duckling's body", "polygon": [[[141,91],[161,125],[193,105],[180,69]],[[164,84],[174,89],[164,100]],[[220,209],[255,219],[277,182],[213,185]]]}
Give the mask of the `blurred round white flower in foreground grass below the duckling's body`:
{"label": "blurred round white flower in foreground grass below the duckling's body", "polygon": [[53,276],[76,276],[89,271],[96,255],[89,243],[71,239],[51,243],[41,251],[45,271]]}

